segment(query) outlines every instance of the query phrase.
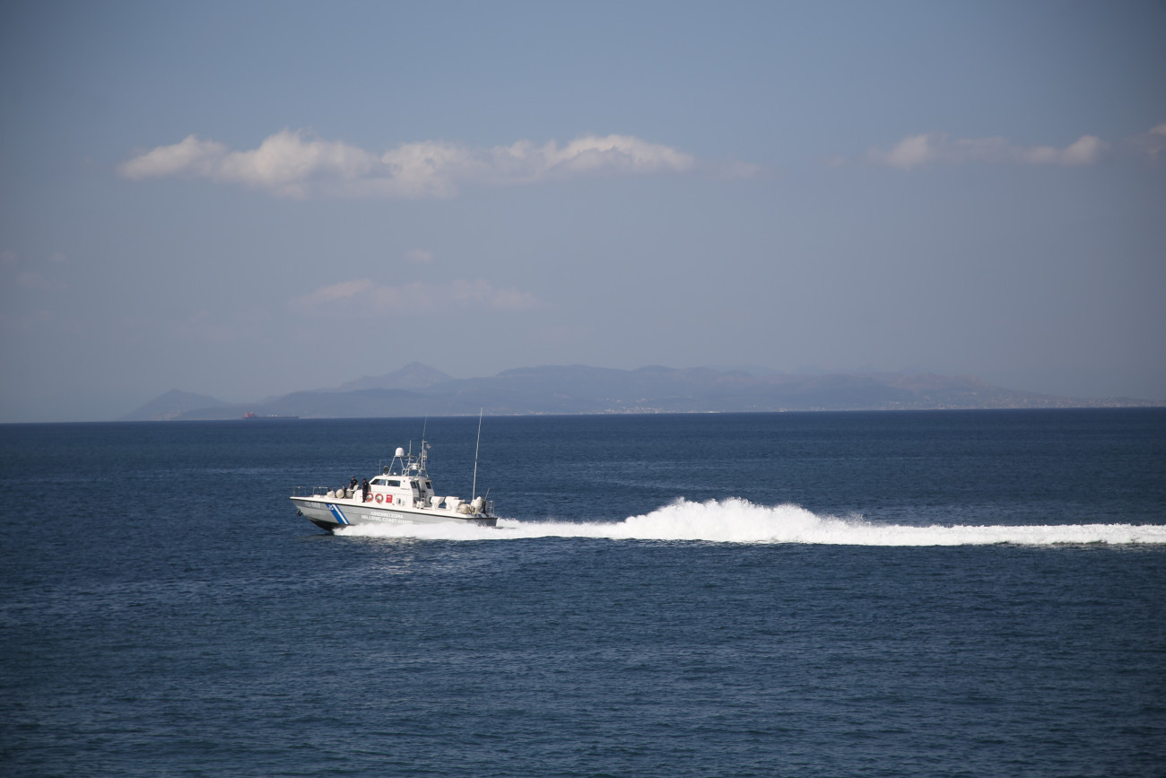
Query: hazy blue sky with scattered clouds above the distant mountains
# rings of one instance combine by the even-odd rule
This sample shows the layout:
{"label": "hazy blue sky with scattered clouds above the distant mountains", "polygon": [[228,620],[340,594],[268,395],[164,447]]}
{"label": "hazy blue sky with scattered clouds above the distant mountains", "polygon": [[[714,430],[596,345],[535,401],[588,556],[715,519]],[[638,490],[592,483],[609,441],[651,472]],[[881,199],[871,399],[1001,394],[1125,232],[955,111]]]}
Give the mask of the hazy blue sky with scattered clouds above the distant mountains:
{"label": "hazy blue sky with scattered clouds above the distant mountains", "polygon": [[420,360],[1166,399],[1166,6],[8,3],[0,421]]}

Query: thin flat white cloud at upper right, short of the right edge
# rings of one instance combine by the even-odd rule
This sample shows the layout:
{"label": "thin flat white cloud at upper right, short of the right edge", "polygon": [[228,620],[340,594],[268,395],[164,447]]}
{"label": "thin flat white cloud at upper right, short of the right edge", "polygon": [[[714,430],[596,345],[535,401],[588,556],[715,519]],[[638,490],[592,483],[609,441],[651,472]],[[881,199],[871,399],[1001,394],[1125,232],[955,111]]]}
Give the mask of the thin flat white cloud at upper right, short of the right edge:
{"label": "thin flat white cloud at upper right, short of the right edge", "polygon": [[927,164],[996,164],[1079,166],[1097,162],[1109,143],[1096,135],[1082,135],[1065,148],[1053,146],[1017,146],[1006,138],[950,138],[944,133],[908,135],[885,152],[872,148],[866,153],[871,164],[911,169]]}

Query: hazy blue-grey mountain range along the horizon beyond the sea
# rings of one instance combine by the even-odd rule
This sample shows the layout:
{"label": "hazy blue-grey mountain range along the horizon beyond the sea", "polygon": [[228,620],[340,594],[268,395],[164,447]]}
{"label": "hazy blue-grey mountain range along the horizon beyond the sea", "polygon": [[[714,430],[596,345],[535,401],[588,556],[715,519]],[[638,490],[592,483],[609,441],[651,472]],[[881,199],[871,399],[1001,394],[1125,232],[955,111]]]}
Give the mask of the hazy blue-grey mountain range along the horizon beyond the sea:
{"label": "hazy blue-grey mountain range along the horizon beyond the sea", "polygon": [[421,363],[365,376],[333,388],[292,392],[254,402],[224,402],[173,390],[122,421],[300,416],[358,419],[477,414],[709,413],[1063,408],[1149,406],[1124,398],[1083,400],[992,386],[970,376],[934,373],[757,374],[747,370],[649,366],[613,370],[546,365],[489,378],[451,378]]}

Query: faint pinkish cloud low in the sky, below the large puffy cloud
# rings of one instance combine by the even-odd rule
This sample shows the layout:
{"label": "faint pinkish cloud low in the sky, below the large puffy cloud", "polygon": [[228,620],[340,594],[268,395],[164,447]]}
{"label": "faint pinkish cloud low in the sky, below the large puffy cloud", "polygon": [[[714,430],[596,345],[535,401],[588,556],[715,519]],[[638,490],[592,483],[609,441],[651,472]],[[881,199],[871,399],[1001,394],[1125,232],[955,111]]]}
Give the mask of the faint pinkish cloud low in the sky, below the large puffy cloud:
{"label": "faint pinkish cloud low in the sky, below the large puffy cloud", "polygon": [[494,287],[483,280],[456,280],[443,285],[414,281],[393,286],[368,279],[321,287],[293,299],[290,304],[314,314],[331,311],[375,317],[402,313],[522,311],[545,307],[529,293]]}

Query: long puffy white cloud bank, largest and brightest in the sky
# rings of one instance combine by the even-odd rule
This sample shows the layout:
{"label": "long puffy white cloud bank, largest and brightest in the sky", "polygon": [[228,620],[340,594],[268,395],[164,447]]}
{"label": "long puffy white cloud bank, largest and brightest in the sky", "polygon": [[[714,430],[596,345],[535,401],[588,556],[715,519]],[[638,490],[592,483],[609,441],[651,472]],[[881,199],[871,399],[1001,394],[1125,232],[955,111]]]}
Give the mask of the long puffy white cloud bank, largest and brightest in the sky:
{"label": "long puffy white cloud bank, largest and brightest in the sky", "polygon": [[[302,131],[265,139],[259,148],[229,150],[190,135],[125,161],[131,180],[206,177],[283,197],[450,197],[459,185],[507,185],[581,175],[689,173],[696,160],[670,146],[631,135],[585,135],[560,147],[521,140],[511,146],[473,148],[444,141],[403,143],[373,154]],[[743,175],[740,168],[737,174]]]}

